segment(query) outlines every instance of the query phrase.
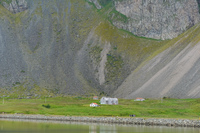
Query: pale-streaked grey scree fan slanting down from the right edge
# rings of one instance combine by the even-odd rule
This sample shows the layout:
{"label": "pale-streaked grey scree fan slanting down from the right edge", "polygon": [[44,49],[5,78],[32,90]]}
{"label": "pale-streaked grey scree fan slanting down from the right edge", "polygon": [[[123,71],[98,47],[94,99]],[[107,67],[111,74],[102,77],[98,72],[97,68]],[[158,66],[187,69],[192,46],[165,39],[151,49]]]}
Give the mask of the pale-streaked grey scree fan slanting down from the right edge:
{"label": "pale-streaked grey scree fan slanting down from the right edge", "polygon": [[129,75],[115,92],[116,96],[199,98],[199,32],[198,24],[169,41],[169,48],[161,48],[163,52],[149,57],[149,60]]}

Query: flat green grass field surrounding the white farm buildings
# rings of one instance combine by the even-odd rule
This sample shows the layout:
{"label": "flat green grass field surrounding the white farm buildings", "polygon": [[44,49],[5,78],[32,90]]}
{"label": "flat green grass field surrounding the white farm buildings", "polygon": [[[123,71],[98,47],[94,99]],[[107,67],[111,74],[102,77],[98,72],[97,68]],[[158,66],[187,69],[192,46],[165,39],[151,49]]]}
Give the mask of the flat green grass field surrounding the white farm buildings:
{"label": "flat green grass field surrounding the white farm buildings", "polygon": [[[119,105],[89,107],[99,100],[82,97],[56,97],[43,99],[0,99],[0,113],[42,114],[65,116],[119,116],[135,114],[143,118],[199,119],[200,99],[147,99],[144,102],[119,99]],[[46,101],[46,103],[45,103]]]}

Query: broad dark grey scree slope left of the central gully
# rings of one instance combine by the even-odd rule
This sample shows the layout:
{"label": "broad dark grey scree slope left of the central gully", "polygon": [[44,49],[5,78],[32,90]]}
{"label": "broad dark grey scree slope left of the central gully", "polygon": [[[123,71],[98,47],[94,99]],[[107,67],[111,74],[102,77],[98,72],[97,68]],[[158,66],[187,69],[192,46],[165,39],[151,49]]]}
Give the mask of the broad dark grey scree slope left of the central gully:
{"label": "broad dark grey scree slope left of the central gully", "polygon": [[0,8],[1,87],[13,93],[96,92],[76,67],[77,53],[98,21],[92,6],[70,0],[27,2],[29,10],[18,14]]}

